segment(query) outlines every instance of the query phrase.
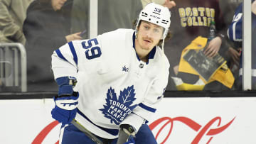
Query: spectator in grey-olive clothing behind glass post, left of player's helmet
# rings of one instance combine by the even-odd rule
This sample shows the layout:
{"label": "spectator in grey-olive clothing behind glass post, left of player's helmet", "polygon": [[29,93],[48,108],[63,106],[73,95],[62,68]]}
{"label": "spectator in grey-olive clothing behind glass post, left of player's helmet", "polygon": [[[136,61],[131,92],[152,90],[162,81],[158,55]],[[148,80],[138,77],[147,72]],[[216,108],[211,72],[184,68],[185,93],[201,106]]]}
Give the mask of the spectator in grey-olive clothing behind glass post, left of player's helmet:
{"label": "spectator in grey-olive clothing behind glass post, left of player's helmet", "polygon": [[[73,2],[71,33],[86,31],[82,38],[89,38],[90,1]],[[98,35],[117,28],[132,28],[132,21],[137,19],[142,3],[139,0],[104,0],[98,1]]]}

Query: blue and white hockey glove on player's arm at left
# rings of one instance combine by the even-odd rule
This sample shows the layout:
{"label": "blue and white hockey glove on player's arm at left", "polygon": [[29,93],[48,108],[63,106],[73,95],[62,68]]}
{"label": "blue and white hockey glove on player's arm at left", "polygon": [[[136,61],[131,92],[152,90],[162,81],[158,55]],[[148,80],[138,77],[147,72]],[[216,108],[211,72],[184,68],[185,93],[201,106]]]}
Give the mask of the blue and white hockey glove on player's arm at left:
{"label": "blue and white hockey glove on player's arm at left", "polygon": [[58,96],[53,97],[55,107],[51,111],[52,117],[60,123],[70,123],[77,112],[78,92],[73,92],[76,84],[75,77],[59,77],[56,79],[59,86]]}

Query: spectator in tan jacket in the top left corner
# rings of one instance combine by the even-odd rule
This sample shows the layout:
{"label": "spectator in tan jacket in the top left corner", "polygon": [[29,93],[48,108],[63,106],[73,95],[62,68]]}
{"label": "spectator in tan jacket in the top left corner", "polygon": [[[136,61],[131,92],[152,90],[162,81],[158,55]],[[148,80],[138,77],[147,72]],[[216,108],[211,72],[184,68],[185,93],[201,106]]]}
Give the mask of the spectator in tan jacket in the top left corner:
{"label": "spectator in tan jacket in the top left corner", "polygon": [[22,43],[22,24],[32,0],[0,0],[0,43]]}

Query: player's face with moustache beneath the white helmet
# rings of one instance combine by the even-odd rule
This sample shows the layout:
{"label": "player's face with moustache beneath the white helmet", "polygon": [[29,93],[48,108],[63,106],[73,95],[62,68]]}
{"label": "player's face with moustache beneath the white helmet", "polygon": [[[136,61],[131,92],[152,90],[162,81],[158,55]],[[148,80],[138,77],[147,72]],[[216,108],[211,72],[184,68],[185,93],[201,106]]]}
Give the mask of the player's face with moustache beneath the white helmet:
{"label": "player's face with moustache beneath the white helmet", "polygon": [[163,35],[164,28],[153,23],[142,21],[137,34],[139,48],[150,52],[159,43]]}

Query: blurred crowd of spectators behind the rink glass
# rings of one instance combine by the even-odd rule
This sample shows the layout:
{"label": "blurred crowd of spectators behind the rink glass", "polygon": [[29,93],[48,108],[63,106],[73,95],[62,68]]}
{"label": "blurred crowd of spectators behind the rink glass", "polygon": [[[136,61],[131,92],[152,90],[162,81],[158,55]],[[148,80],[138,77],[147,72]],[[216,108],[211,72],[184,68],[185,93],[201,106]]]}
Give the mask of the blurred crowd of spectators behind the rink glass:
{"label": "blurred crowd of spectators behind the rink glass", "polygon": [[[169,40],[164,43],[171,65],[167,91],[242,89],[242,38],[233,38],[242,33],[242,0],[98,1],[98,34],[134,28],[139,12],[151,2],[171,12]],[[255,3],[252,0],[252,52]],[[26,48],[28,92],[57,91],[50,57],[71,40],[88,39],[89,21],[90,0],[0,0],[0,43],[21,43]],[[252,89],[256,89],[254,63]]]}

